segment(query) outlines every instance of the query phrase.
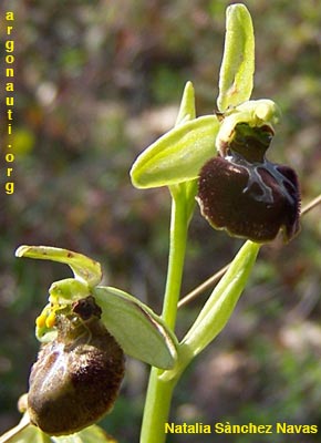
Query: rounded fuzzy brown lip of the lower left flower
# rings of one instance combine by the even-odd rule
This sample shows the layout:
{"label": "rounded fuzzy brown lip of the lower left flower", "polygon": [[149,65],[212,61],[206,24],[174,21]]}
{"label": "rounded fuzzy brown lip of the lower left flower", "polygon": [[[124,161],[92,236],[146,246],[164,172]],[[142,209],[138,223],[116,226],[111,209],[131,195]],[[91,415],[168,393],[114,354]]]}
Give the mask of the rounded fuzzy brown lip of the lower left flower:
{"label": "rounded fuzzy brown lip of the lower left flower", "polygon": [[43,432],[64,435],[96,422],[113,406],[124,354],[95,316],[84,322],[72,312],[56,323],[56,340],[41,348],[31,370],[28,412]]}

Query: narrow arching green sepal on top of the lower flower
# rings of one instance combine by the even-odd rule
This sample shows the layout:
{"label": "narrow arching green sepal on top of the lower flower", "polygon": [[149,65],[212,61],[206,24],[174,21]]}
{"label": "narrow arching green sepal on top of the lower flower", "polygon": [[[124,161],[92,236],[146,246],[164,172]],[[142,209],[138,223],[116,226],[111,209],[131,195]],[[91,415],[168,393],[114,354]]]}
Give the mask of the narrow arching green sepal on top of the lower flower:
{"label": "narrow arching green sepal on top of the lower flower", "polygon": [[69,265],[74,277],[93,287],[102,279],[101,265],[91,258],[73,253],[72,250],[54,248],[49,246],[20,246],[15,251],[17,257],[37,258],[40,260],[52,260]]}

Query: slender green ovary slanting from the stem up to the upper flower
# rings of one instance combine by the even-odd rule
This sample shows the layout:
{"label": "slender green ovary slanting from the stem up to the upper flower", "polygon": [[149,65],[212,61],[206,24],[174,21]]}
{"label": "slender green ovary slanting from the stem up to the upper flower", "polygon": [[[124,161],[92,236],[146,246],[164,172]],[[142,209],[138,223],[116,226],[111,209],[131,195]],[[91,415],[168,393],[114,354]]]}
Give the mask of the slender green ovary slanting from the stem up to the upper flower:
{"label": "slender green ovary slanting from the stem up to the upper flower", "polygon": [[259,249],[259,244],[248,240],[211,292],[180,344],[182,352],[186,348],[185,353],[190,359],[203,351],[226,326],[247,285]]}

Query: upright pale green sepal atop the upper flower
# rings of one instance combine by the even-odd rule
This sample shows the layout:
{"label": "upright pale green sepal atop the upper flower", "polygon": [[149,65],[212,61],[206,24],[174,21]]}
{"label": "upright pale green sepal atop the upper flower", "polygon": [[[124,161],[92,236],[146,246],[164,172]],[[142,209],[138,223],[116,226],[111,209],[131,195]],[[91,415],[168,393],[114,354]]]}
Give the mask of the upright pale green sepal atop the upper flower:
{"label": "upright pale green sepal atop the upper flower", "polygon": [[249,100],[253,73],[255,35],[251,16],[245,4],[232,4],[226,11],[225,49],[217,99],[220,112]]}

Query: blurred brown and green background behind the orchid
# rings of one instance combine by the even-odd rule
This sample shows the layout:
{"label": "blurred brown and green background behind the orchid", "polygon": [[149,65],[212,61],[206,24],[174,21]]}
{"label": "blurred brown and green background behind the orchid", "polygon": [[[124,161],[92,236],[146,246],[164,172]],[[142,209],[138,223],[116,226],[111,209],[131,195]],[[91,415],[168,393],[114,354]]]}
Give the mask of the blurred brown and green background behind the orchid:
{"label": "blurred brown and green background behind the orchid", "polygon": [[[220,0],[4,0],[15,13],[13,147],[15,192],[1,192],[0,433],[19,420],[38,342],[34,319],[66,267],[14,258],[21,244],[52,245],[102,261],[104,282],[159,312],[169,196],[137,190],[128,169],[173,126],[187,80],[198,115],[216,106],[225,33]],[[283,119],[269,158],[298,172],[303,204],[320,193],[320,47],[318,0],[249,0],[256,31],[253,99],[269,97]],[[2,119],[2,143],[6,145]],[[1,147],[2,151],[2,147]],[[3,152],[1,153],[3,186]],[[321,208],[302,219],[290,245],[265,246],[226,330],[188,368],[170,420],[317,424],[321,430]],[[190,226],[183,295],[229,261],[240,240]],[[179,311],[177,334],[206,295]],[[125,327],[125,326],[124,326]],[[121,398],[104,427],[138,441],[148,368],[127,360]],[[320,434],[319,434],[320,435]],[[318,435],[170,435],[169,443],[300,442]],[[302,440],[303,439],[303,440]]]}

